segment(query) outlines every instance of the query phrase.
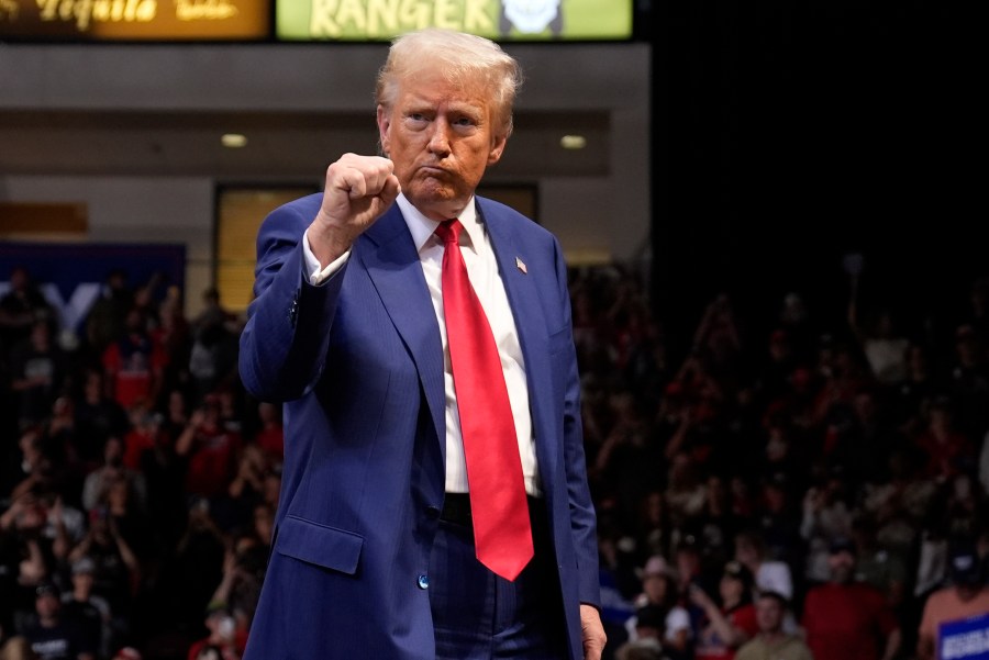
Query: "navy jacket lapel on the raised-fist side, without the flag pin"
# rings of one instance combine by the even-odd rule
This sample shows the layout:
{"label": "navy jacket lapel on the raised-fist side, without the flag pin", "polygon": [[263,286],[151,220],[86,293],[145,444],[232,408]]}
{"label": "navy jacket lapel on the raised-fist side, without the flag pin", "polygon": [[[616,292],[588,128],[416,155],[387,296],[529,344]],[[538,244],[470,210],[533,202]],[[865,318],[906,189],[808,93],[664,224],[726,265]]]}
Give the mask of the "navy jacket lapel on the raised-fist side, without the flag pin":
{"label": "navy jacket lapel on the raised-fist side, without the flag pin", "polygon": [[[360,250],[368,277],[409,349],[425,392],[437,436],[446,437],[443,346],[419,254],[397,205],[364,234],[373,245]],[[441,441],[443,456],[446,443]]]}

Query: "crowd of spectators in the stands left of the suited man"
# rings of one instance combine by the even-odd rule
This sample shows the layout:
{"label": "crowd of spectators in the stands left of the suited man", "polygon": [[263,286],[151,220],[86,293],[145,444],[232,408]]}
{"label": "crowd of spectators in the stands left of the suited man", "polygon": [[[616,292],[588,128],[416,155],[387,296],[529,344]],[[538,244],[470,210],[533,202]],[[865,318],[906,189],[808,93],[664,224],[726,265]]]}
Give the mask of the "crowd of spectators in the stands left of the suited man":
{"label": "crowd of spectators in the stands left of the suited man", "polygon": [[238,384],[241,320],[116,270],[70,332],[30,275],[0,299],[0,645],[238,659],[282,459],[280,409]]}

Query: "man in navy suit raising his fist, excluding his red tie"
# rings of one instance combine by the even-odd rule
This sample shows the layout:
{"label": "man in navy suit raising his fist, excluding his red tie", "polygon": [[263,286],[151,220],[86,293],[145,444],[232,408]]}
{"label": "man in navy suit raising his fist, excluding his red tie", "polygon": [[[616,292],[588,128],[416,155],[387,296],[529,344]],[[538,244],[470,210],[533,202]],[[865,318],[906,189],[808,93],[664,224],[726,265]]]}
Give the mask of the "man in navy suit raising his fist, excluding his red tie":
{"label": "man in navy suit raising his fist, excluding his red tie", "polygon": [[[399,37],[376,93],[385,157],[342,156],[323,193],[262,226],[240,367],[252,394],[285,403],[286,459],[246,660],[601,657],[560,246],[475,195],[511,135],[520,82],[488,40]],[[451,219],[518,440],[534,547],[518,577],[475,557],[442,291],[449,248],[434,234]]]}

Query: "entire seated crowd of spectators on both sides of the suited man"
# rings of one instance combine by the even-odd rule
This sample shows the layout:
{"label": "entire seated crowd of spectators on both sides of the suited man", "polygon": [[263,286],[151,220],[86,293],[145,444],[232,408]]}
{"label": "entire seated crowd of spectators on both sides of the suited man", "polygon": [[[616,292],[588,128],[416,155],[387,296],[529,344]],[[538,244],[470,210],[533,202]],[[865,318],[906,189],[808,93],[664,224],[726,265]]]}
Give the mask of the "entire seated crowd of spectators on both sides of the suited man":
{"label": "entire seated crowd of spectators on both sides of the suited man", "polygon": [[[677,350],[638,271],[570,276],[608,660],[930,660],[989,612],[989,280],[946,334],[854,286],[833,317],[721,293]],[[243,317],[113,271],[71,332],[10,284],[0,657],[237,660],[284,456]]]}

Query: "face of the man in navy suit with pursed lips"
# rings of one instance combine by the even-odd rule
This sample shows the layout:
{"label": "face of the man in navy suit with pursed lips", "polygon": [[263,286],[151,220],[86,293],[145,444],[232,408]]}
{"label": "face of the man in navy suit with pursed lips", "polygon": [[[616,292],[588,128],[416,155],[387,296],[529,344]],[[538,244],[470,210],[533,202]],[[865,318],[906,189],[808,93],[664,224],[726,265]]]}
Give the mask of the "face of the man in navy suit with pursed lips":
{"label": "face of the man in navy suit with pursed lips", "polygon": [[395,107],[378,107],[378,130],[402,192],[436,221],[456,217],[507,139],[481,86],[464,89],[438,76],[405,79]]}

